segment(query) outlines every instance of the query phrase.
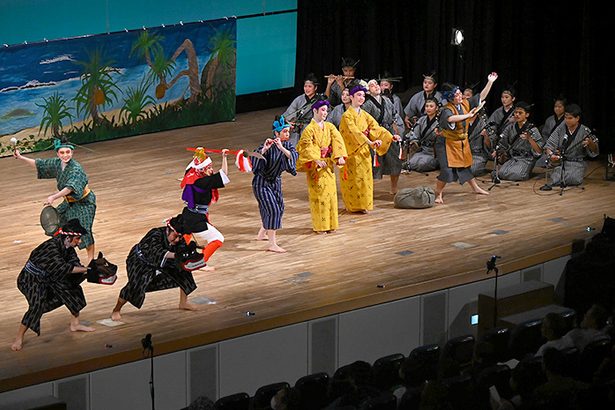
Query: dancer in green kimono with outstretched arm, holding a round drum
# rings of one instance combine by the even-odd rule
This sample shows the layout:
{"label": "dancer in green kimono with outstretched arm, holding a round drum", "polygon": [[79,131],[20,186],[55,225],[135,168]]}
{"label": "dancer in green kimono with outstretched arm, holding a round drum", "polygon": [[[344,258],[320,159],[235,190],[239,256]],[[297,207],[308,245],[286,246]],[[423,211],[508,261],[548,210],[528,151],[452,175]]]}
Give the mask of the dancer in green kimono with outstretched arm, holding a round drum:
{"label": "dancer in green kimono with outstretched arm, holding a round drum", "polygon": [[54,148],[57,158],[32,159],[21,155],[15,150],[15,158],[26,162],[36,169],[39,179],[56,179],[58,191],[49,195],[44,203],[53,203],[62,198],[64,201],[58,205],[60,223],[77,218],[79,223],[87,230],[79,243],[79,249],[86,249],[88,262],[94,259],[95,247],[92,225],[96,214],[96,195],[88,186],[88,176],[80,163],[73,159],[75,146],[65,140],[55,139]]}

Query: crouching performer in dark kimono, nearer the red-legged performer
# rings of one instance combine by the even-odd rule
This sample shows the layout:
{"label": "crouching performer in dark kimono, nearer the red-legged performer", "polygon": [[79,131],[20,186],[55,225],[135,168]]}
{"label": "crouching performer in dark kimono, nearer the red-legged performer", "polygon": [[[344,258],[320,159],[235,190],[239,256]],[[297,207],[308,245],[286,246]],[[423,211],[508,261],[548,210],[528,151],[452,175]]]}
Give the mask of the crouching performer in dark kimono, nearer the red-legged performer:
{"label": "crouching performer in dark kimono, nearer the red-legged performer", "polygon": [[119,321],[122,318],[120,311],[126,302],[141,309],[145,293],[177,287],[179,309],[197,309],[188,302],[188,295],[196,289],[196,283],[192,273],[181,268],[177,257],[181,245],[185,245],[182,219],[178,215],[169,219],[166,226],[151,229],[132,247],[126,259],[128,283],[120,291],[111,319]]}

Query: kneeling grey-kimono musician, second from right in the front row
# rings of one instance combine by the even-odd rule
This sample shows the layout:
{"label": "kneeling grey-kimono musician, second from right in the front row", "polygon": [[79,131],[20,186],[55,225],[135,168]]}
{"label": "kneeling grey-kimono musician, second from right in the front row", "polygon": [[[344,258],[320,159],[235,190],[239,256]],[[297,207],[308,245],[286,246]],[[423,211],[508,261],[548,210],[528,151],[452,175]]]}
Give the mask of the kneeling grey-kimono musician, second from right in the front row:
{"label": "kneeling grey-kimono musician, second from right in the front row", "polygon": [[[530,178],[534,164],[542,153],[540,131],[528,119],[531,105],[520,101],[515,106],[515,123],[502,134],[495,156],[499,169],[497,176],[508,181],[525,181]],[[493,171],[494,175],[496,170]]]}

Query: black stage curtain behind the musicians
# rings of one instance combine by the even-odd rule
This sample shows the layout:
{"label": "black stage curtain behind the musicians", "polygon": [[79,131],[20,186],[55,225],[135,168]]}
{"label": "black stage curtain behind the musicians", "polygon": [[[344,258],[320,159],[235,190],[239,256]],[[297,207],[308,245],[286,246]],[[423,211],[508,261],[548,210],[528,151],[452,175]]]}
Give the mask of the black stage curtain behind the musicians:
{"label": "black stage curtain behind the musicians", "polygon": [[[324,91],[323,76],[341,73],[341,57],[360,59],[363,79],[384,70],[402,76],[395,89],[402,99],[432,70],[440,84],[479,82],[478,90],[497,71],[489,111],[514,84],[517,101],[535,104],[530,120],[542,124],[562,94],[582,107],[582,122],[596,129],[603,152],[612,151],[607,101],[615,86],[605,59],[615,51],[615,23],[607,17],[589,0],[299,0],[296,89],[314,72]],[[464,31],[462,47],[450,44],[453,27]]]}

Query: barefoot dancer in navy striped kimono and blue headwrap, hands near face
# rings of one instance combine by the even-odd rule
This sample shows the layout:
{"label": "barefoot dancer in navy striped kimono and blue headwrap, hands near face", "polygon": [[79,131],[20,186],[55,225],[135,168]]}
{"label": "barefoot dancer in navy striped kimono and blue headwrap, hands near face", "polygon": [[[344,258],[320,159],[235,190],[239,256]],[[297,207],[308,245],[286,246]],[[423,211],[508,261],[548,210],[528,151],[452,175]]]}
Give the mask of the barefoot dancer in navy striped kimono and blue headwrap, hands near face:
{"label": "barefoot dancer in navy striped kimono and blue headwrap, hands near face", "polygon": [[[310,114],[311,118],[312,114]],[[264,160],[253,158],[252,191],[258,202],[262,225],[258,231],[257,239],[269,241],[268,251],[284,253],[276,239],[276,231],[282,227],[284,214],[284,198],[282,196],[282,173],[288,172],[297,175],[297,150],[295,144],[289,141],[290,124],[284,116],[276,117],[273,121],[273,137],[267,138],[257,148],[257,152],[265,157]]]}

